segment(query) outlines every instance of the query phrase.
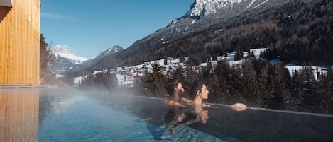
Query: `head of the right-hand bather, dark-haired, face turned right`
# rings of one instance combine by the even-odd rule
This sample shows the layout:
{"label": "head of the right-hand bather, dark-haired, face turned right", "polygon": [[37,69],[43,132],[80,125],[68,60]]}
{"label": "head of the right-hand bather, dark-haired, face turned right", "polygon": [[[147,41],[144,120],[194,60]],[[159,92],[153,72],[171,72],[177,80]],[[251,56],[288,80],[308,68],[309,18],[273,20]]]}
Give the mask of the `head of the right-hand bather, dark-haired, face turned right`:
{"label": "head of the right-hand bather, dark-haired, face turned right", "polygon": [[207,90],[207,86],[204,85],[202,81],[195,81],[192,84],[192,93],[191,97],[194,99],[195,97],[201,97],[202,99],[208,98],[209,91]]}

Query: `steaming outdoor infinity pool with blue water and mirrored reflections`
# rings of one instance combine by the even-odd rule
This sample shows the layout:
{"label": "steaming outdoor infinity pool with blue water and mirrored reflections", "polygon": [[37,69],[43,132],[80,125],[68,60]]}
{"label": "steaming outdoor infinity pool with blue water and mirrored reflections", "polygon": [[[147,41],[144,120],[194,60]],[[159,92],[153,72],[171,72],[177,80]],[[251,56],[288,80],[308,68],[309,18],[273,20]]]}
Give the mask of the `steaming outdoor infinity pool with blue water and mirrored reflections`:
{"label": "steaming outdoor infinity pool with blue water and mirrored reflections", "polygon": [[[0,90],[0,141],[327,141],[333,117],[226,105],[165,133],[162,100],[60,89]],[[166,138],[166,139],[162,139]]]}

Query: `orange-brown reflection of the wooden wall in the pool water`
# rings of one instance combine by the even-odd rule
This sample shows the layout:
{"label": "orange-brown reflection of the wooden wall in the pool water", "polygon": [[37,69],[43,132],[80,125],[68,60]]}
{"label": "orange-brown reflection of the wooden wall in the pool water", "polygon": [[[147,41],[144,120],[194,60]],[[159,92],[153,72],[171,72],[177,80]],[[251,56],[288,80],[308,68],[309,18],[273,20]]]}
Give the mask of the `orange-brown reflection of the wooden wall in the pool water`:
{"label": "orange-brown reflection of the wooden wall in the pool water", "polygon": [[38,89],[0,89],[0,141],[38,141]]}

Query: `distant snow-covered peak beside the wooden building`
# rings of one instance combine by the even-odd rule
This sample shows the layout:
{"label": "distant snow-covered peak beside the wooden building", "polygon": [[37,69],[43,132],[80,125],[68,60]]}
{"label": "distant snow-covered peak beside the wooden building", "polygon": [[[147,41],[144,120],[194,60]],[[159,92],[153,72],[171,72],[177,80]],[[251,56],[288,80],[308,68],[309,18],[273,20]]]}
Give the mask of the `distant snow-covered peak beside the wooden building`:
{"label": "distant snow-covered peak beside the wooden building", "polygon": [[67,45],[53,45],[50,47],[50,52],[55,55],[55,61],[50,64],[50,70],[53,73],[62,73],[69,71],[74,66],[87,61],[87,58],[75,56],[75,52]]}

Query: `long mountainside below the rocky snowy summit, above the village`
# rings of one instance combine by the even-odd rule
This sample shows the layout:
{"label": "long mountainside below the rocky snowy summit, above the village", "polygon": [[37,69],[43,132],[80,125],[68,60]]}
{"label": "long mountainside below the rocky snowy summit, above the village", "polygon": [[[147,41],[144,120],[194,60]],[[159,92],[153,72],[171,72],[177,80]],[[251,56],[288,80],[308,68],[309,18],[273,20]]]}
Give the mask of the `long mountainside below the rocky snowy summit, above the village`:
{"label": "long mountainside below the rocky snowy summit, above the village", "polygon": [[[266,54],[267,59],[282,57],[285,64],[332,64],[332,1],[261,1],[248,8],[250,2],[242,1],[199,19],[179,18],[174,25],[170,23],[85,70],[131,66],[165,57],[190,57],[190,61],[200,64],[237,49],[260,47],[277,53]],[[286,53],[293,58],[288,59]],[[305,54],[310,58],[304,59]]]}

